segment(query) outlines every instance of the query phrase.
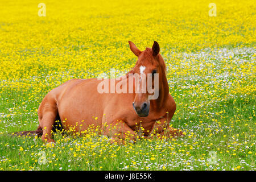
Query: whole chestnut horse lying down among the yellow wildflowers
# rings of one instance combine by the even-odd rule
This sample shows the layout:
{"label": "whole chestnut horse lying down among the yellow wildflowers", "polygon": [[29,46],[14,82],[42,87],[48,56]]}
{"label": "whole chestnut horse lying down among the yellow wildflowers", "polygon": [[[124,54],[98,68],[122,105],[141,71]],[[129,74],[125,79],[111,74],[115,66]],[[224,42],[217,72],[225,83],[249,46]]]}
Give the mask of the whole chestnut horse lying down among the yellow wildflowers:
{"label": "whole chestnut horse lying down among the yellow wildflowers", "polygon": [[[140,51],[132,42],[129,45],[138,61],[122,81],[128,82],[128,78],[134,73],[152,74],[152,77],[158,73],[158,90],[154,90],[158,92],[158,98],[149,100],[151,94],[148,92],[99,93],[97,88],[101,81],[97,78],[69,80],[43,98],[38,109],[38,130],[30,133],[41,133],[42,140],[55,142],[51,137],[51,130],[55,121],[60,119],[64,130],[74,127],[75,132],[80,133],[94,125],[100,127],[102,135],[108,135],[117,142],[125,140],[128,134],[129,139],[136,140],[137,123],[144,128],[145,137],[152,133],[160,137],[183,135],[182,131],[169,126],[176,104],[169,93],[166,65],[159,54],[159,44],[154,42],[152,48],[144,51]],[[116,79],[115,85],[118,82]],[[110,126],[114,125],[110,131]]]}

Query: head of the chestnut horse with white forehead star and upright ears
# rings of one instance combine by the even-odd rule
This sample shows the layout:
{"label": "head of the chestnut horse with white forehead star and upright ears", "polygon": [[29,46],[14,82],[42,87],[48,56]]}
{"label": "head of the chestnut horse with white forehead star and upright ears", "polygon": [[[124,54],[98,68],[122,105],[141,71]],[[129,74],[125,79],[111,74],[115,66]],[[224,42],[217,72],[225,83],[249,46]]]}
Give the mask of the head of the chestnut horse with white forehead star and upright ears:
{"label": "head of the chestnut horse with white forehead star and upright ears", "polygon": [[138,56],[138,61],[133,68],[133,74],[137,78],[135,78],[133,107],[139,117],[147,117],[150,100],[158,99],[162,77],[166,79],[166,65],[159,54],[160,48],[157,42],[154,42],[152,48],[146,48],[144,51],[140,51],[132,42],[129,44],[131,51]]}

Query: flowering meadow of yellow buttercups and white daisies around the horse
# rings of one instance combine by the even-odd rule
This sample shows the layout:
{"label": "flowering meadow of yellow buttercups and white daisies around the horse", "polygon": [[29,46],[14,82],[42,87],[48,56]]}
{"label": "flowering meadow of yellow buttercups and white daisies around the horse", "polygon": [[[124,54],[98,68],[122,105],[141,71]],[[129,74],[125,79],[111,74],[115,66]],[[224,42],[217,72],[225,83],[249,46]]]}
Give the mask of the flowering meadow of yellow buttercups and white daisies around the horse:
{"label": "flowering meadow of yellow buttercups and white daisies around the horse", "polygon": [[[255,1],[44,0],[46,16],[39,3],[0,2],[0,170],[256,169]],[[171,125],[184,137],[119,145],[56,134],[53,147],[10,135],[35,130],[40,102],[63,82],[128,72],[129,40],[159,43],[177,105]]]}

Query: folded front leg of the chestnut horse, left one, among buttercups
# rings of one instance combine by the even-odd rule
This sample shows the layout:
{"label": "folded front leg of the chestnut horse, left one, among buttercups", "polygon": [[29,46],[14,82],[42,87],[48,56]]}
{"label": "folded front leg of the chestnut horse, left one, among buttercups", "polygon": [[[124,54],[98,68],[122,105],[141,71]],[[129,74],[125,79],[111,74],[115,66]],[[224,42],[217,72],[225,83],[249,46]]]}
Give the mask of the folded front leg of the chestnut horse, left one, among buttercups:
{"label": "folded front leg of the chestnut horse, left one, among buttercups", "polygon": [[125,144],[125,142],[135,141],[138,134],[135,133],[126,122],[115,120],[112,123],[102,124],[102,133],[108,135],[112,143]]}

